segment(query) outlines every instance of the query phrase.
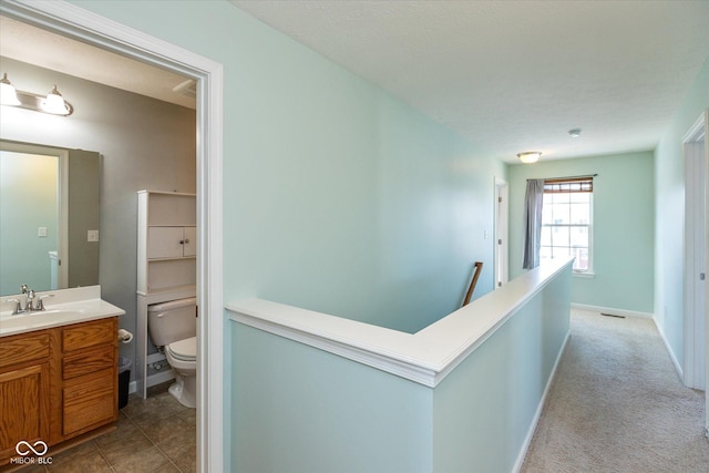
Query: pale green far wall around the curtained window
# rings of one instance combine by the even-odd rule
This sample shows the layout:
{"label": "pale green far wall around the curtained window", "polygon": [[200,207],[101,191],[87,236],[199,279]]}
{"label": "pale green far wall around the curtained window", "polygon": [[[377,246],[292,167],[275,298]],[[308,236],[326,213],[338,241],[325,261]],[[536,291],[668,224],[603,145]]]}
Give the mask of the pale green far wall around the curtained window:
{"label": "pale green far wall around the curtained window", "polygon": [[572,301],[653,313],[654,164],[648,151],[510,166],[511,276],[523,273],[526,179],[598,174],[594,178],[595,277],[574,277]]}

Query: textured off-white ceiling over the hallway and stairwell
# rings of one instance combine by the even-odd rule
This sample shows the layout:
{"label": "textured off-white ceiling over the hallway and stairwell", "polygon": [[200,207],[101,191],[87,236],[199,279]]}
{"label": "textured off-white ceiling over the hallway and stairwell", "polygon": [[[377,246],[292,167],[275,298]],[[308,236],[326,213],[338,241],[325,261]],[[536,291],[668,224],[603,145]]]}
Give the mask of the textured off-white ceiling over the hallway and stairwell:
{"label": "textured off-white ceiling over the hallway and stairwell", "polygon": [[709,1],[232,3],[508,162],[654,148],[709,56]]}

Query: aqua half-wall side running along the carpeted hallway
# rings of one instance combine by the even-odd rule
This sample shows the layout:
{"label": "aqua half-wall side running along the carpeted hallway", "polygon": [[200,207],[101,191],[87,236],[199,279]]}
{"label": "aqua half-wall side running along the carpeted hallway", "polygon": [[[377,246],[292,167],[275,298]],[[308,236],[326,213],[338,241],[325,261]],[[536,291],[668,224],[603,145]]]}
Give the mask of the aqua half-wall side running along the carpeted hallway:
{"label": "aqua half-wall side running along the carpeted hallway", "polygon": [[511,472],[569,330],[568,266],[434,390],[433,472]]}

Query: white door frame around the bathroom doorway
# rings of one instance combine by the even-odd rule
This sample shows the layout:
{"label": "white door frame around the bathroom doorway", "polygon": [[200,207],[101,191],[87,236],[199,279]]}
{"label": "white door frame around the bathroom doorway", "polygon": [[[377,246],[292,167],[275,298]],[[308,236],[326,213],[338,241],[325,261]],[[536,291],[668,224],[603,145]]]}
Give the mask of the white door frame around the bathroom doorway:
{"label": "white door frame around the bathroom doorway", "polygon": [[65,1],[3,0],[0,12],[198,81],[197,471],[224,471],[223,65]]}

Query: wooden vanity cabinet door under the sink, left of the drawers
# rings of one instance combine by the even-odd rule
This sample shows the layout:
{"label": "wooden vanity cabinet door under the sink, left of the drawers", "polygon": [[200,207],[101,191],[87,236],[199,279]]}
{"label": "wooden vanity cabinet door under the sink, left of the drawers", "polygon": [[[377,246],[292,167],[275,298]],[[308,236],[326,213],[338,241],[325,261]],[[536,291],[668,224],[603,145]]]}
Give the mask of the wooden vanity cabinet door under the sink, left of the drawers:
{"label": "wooden vanity cabinet door under the sink, left of the drawers", "polygon": [[50,439],[49,363],[0,373],[0,464],[17,456],[19,441]]}

